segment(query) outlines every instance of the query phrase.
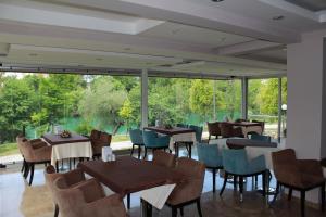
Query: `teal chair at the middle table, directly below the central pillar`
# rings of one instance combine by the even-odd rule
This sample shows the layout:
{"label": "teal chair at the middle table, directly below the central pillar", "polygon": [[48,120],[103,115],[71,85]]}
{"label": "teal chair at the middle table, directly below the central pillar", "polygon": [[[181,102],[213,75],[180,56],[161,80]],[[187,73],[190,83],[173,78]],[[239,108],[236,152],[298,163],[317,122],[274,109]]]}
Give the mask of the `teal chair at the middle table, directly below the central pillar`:
{"label": "teal chair at the middle table, directly below the central pillar", "polygon": [[147,157],[147,150],[165,150],[168,149],[170,137],[168,136],[159,136],[156,132],[151,130],[142,131],[142,139],[145,144],[145,154],[143,158]]}

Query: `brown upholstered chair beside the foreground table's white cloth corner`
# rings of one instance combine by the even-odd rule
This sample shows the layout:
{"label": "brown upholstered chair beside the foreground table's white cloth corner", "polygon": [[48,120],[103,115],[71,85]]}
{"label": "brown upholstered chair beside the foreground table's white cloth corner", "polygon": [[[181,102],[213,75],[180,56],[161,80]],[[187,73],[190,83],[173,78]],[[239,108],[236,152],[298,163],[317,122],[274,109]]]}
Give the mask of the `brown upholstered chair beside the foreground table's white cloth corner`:
{"label": "brown upholstered chair beside the foreground table's white cloth corner", "polygon": [[175,187],[166,201],[166,205],[172,208],[172,216],[177,216],[178,208],[184,215],[184,206],[192,203],[197,203],[199,216],[202,216],[200,196],[205,174],[204,164],[188,157],[180,157],[177,159],[175,169],[188,178]]}

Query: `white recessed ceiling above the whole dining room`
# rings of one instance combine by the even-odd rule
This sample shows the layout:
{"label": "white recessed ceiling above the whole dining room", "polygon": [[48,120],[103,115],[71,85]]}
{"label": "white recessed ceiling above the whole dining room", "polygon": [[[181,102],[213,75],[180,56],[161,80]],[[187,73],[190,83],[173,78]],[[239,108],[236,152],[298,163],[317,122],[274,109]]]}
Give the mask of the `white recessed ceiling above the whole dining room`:
{"label": "white recessed ceiling above the whole dining room", "polygon": [[325,27],[281,0],[2,0],[0,63],[278,76],[286,44]]}

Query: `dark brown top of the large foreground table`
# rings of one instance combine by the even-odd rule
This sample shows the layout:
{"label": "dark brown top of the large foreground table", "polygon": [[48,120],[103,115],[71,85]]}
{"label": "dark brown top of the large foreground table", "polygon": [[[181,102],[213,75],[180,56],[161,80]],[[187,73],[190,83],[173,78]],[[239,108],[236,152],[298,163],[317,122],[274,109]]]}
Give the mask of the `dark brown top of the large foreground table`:
{"label": "dark brown top of the large foreground table", "polygon": [[186,178],[172,168],[130,156],[122,156],[114,162],[82,162],[78,168],[122,196],[167,183],[179,183]]}

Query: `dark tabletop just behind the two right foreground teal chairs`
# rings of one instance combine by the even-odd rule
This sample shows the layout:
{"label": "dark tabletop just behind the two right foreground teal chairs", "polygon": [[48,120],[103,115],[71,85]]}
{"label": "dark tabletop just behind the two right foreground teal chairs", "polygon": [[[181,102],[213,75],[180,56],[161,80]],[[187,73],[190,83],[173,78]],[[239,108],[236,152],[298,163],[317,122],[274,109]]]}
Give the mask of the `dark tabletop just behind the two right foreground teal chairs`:
{"label": "dark tabletop just behind the two right foreground teal chairs", "polygon": [[246,146],[277,148],[275,142],[258,141],[252,139],[227,139],[229,149],[244,149]]}

